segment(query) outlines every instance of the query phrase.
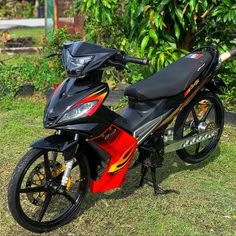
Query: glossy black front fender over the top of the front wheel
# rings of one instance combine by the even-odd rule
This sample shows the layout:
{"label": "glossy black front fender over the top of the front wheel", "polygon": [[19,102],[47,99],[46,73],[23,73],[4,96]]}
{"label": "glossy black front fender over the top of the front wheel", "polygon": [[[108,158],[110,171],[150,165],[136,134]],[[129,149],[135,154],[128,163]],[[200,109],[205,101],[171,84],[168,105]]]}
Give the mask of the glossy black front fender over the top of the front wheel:
{"label": "glossy black front fender over the top of the front wheel", "polygon": [[74,140],[73,137],[67,135],[51,135],[45,138],[41,138],[30,146],[32,148],[44,149],[56,152],[68,152],[74,149],[78,144],[78,140]]}

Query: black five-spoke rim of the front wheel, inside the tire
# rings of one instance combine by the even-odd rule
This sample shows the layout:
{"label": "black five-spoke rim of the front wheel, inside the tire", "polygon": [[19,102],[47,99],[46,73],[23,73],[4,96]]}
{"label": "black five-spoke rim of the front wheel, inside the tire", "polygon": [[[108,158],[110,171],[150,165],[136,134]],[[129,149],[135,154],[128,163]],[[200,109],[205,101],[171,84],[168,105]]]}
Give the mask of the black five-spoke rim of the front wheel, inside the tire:
{"label": "black five-spoke rim of the front wheel, inside the tire", "polygon": [[[59,159],[59,161],[58,161]],[[63,163],[62,155],[58,156],[57,163]],[[23,218],[35,226],[53,225],[65,220],[80,205],[86,192],[85,176],[78,162],[71,172],[71,183],[66,192],[61,194],[57,191],[63,171],[55,173],[53,162],[50,160],[50,152],[40,152],[27,166],[17,186],[17,205]],[[39,170],[43,176],[41,180],[37,175],[32,178],[32,171],[37,171],[39,164],[44,167]],[[64,164],[64,163],[63,163]],[[62,166],[62,165],[61,165]],[[31,174],[31,175],[30,175]],[[29,187],[29,177],[31,178]],[[41,181],[41,183],[39,183]],[[30,202],[29,195],[32,195]],[[38,202],[35,202],[35,199]],[[41,201],[39,201],[41,199]]]}

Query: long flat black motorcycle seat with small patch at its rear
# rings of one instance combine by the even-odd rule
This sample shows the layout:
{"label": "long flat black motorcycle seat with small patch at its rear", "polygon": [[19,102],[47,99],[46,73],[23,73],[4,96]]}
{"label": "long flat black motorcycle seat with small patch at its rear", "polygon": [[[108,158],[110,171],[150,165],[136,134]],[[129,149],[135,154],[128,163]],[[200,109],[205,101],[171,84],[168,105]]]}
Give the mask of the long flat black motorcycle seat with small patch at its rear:
{"label": "long flat black motorcycle seat with small patch at its rear", "polygon": [[137,101],[177,95],[199,77],[211,60],[212,55],[208,52],[190,53],[149,78],[130,85],[125,95]]}

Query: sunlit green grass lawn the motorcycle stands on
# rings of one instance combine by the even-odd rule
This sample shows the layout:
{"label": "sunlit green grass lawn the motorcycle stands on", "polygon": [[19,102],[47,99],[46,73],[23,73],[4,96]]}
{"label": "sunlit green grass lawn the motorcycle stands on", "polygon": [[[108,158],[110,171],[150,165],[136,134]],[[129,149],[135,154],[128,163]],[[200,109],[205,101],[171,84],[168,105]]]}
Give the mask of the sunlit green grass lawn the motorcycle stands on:
{"label": "sunlit green grass lawn the motorcycle stands on", "polygon": [[[0,100],[0,235],[32,235],[7,209],[7,185],[29,144],[50,132],[42,126],[44,105]],[[236,235],[236,127],[225,127],[220,145],[199,165],[166,156],[158,178],[180,195],[153,196],[136,186],[139,168],[118,190],[88,195],[82,215],[47,235]]]}

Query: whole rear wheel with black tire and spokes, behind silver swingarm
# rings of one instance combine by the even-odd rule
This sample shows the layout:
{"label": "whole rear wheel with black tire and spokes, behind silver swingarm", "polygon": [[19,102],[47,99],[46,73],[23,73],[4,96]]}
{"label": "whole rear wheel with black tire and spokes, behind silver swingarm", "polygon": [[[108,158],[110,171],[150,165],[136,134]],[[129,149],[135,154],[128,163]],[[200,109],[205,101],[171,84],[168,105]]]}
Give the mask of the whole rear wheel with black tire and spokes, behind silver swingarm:
{"label": "whole rear wheel with black tire and spokes, behind silver swingarm", "polygon": [[[218,128],[218,134],[205,142],[177,150],[184,162],[197,164],[206,160],[216,148],[224,128],[224,107],[216,94],[203,92],[198,94],[179,113],[174,126],[174,140],[192,137],[201,133],[201,127],[208,131]],[[204,132],[204,131],[203,131]]]}

